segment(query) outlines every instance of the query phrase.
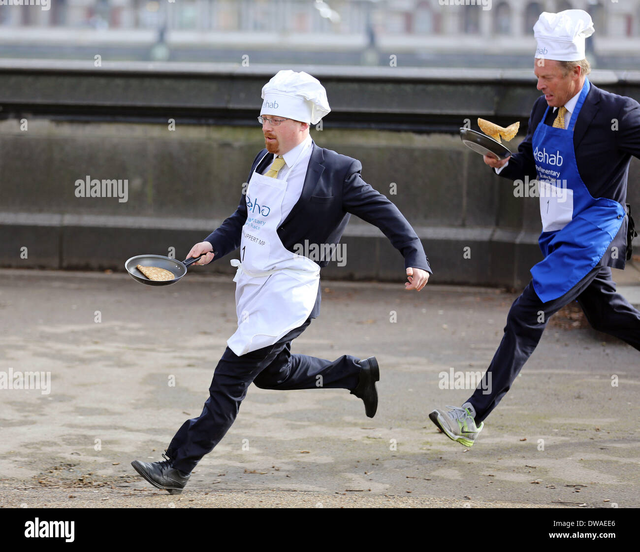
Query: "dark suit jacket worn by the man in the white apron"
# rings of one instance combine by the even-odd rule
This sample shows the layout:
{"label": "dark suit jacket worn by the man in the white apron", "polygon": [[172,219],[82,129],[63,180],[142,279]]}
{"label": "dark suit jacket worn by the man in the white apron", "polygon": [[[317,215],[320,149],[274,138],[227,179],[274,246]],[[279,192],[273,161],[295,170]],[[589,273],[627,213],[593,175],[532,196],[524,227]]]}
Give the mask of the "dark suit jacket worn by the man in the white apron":
{"label": "dark suit jacket worn by the man in the white apron", "polygon": [[[266,151],[263,149],[253,159],[249,179],[256,168],[262,174],[273,160],[271,156],[266,156],[257,166]],[[300,245],[305,244],[305,240],[309,244],[337,245],[349,222],[349,213],[352,213],[384,232],[404,257],[404,268],[411,266],[431,272],[420,238],[399,209],[362,180],[361,170],[362,165],[357,159],[317,147],[314,143],[300,199],[278,227],[282,245],[295,253],[300,252]],[[236,212],[205,239],[213,246],[214,260],[239,247],[246,214],[246,197],[243,195]],[[294,250],[296,245],[298,247]],[[329,261],[315,262],[319,266],[326,266]],[[312,318],[319,314],[320,288],[318,286]]]}

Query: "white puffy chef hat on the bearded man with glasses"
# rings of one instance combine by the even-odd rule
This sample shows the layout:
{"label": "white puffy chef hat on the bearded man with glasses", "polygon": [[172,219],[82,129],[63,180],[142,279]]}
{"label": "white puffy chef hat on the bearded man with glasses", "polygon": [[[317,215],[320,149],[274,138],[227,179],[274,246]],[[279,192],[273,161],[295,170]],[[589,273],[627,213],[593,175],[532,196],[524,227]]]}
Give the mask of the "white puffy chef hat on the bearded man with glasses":
{"label": "white puffy chef hat on the bearded man with glasses", "polygon": [[278,71],[262,86],[260,115],[316,124],[331,108],[320,81],[304,71]]}

